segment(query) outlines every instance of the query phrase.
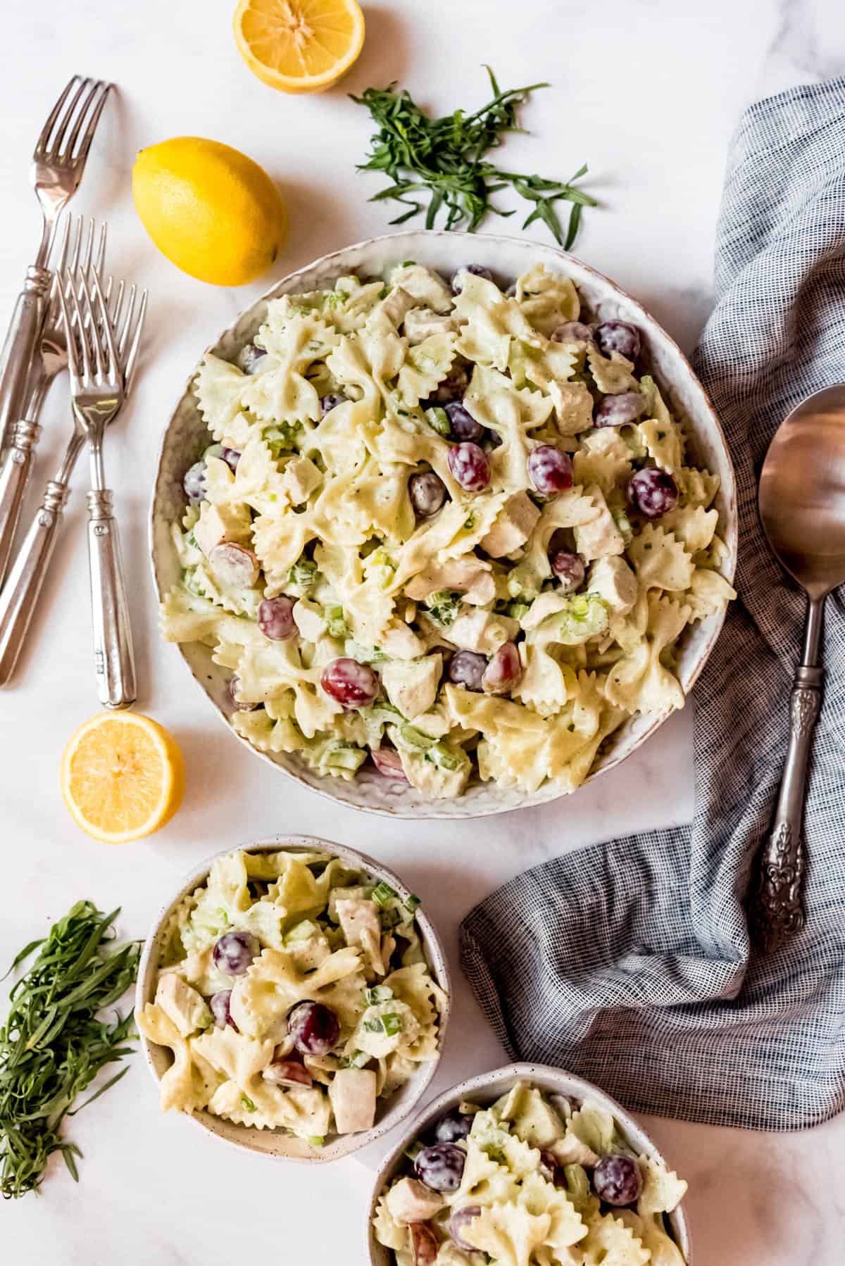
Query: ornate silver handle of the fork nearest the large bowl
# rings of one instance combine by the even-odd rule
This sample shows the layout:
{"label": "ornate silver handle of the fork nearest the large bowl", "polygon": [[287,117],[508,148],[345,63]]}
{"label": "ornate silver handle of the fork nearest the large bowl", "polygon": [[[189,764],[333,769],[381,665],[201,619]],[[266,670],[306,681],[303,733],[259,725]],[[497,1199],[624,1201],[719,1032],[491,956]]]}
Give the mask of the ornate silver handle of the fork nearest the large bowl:
{"label": "ornate silver handle of the fork nearest the large bowl", "polygon": [[118,520],[109,489],[87,494],[87,546],[94,623],[94,671],[100,703],[129,708],[136,701],[132,625],[123,579]]}

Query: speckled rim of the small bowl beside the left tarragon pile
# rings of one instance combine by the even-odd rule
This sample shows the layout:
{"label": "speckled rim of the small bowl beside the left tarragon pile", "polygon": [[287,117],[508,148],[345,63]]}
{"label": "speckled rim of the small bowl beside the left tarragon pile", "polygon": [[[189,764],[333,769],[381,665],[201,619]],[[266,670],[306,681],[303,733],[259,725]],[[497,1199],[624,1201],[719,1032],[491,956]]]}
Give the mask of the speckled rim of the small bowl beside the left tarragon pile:
{"label": "speckled rim of the small bowl beside the left tarragon pile", "polygon": [[[233,852],[329,852],[334,857],[340,857],[342,861],[353,863],[355,868],[364,870],[374,877],[390,884],[391,887],[397,890],[400,896],[410,896],[410,889],[403,884],[399,876],[384,866],[381,862],[370,857],[367,853],[360,852],[357,848],[350,848],[346,844],[338,844],[332,839],[326,839],[322,836],[304,836],[304,834],[288,834],[286,832],[280,832],[276,836],[264,836],[261,839],[252,841],[251,843],[232,844],[229,848],[222,848],[219,852],[205,858],[200,865],[193,867],[187,874],[182,876],[179,890],[176,894],[162,906],[160,906],[156,913],[155,922],[152,923],[147,937],[144,938],[143,948],[141,952],[141,960],[138,962],[138,975],[134,990],[134,1010],[141,1012],[147,1003],[151,1003],[155,996],[155,984],[156,972],[158,970],[157,952],[158,952],[158,937],[170,918],[172,910],[177,904],[199,887],[204,880],[208,879],[212,865],[220,857],[227,857]],[[428,915],[424,905],[417,908],[417,923],[419,928],[419,939],[422,942],[423,952],[426,955],[426,961],[428,962],[429,971],[437,984],[441,986],[446,995],[446,1001],[443,1010],[440,1013],[440,1027],[438,1027],[438,1042],[437,1042],[437,1058],[431,1060],[424,1065],[421,1065],[419,1072],[416,1075],[417,1084],[412,1094],[408,1096],[407,1104],[403,1106],[400,1104],[393,1103],[391,1100],[395,1095],[385,1100],[384,1115],[375,1122],[370,1129],[360,1131],[355,1134],[332,1134],[329,1136],[329,1142],[326,1146],[317,1148],[310,1144],[305,1144],[302,1150],[302,1155],[285,1155],[284,1152],[264,1151],[250,1146],[246,1141],[239,1142],[236,1138],[228,1138],[219,1134],[210,1124],[206,1123],[206,1113],[179,1113],[180,1117],[186,1118],[194,1125],[201,1128],[206,1134],[217,1138],[219,1142],[226,1143],[229,1147],[234,1147],[238,1151],[248,1151],[253,1155],[264,1156],[270,1160],[294,1162],[294,1163],[332,1163],[333,1161],[342,1160],[346,1156],[351,1156],[353,1152],[360,1151],[362,1147],[367,1147],[376,1138],[383,1134],[389,1133],[395,1129],[400,1122],[405,1120],[419,1104],[419,1100],[426,1094],[426,1090],[431,1085],[431,1081],[440,1066],[440,1061],[443,1055],[443,1044],[446,1041],[446,1033],[448,1031],[448,1020],[452,1009],[452,981],[448,970],[448,960],[446,956],[446,950],[441,936],[435,927],[431,917]],[[155,1061],[152,1057],[152,1047],[160,1050],[158,1043],[151,1042],[143,1033],[138,1033],[141,1047],[143,1050],[144,1063],[147,1070],[156,1084],[160,1087],[160,1075],[156,1071]],[[410,1082],[405,1082],[410,1085]],[[220,1118],[223,1120],[223,1118]],[[234,1125],[234,1123],[228,1123]],[[248,1125],[234,1125],[238,1131],[250,1131]],[[256,1134],[276,1134],[275,1131],[253,1131]]]}

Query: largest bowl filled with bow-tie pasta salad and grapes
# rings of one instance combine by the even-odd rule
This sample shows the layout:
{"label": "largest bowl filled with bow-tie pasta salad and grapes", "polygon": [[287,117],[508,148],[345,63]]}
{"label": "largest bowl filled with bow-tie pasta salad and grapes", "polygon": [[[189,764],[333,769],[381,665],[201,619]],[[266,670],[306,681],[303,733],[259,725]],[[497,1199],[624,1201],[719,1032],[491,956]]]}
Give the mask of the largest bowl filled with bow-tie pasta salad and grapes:
{"label": "largest bowl filled with bow-tie pasta salad and grapes", "polygon": [[305,785],[476,817],[628,756],[734,596],[731,461],[644,309],[530,241],[400,233],[191,375],[152,509],[165,637]]}

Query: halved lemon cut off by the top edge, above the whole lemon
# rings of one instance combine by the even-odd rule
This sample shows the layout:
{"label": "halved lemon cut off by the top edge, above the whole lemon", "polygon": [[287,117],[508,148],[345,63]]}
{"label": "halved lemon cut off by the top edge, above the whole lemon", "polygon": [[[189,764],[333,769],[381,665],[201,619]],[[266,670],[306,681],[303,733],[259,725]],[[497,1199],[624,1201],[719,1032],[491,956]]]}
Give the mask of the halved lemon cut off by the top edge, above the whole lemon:
{"label": "halved lemon cut off by the top edge, above the whole lemon", "polygon": [[364,44],[357,0],[241,0],[234,39],[253,75],[281,92],[322,92]]}

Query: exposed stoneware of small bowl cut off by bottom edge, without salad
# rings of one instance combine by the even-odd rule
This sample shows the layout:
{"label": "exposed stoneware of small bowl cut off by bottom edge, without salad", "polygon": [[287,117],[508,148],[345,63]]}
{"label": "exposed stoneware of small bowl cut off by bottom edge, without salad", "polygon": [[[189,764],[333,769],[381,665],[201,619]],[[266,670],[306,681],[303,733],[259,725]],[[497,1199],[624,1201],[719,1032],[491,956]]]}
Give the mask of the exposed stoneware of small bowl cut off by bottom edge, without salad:
{"label": "exposed stoneware of small bowl cut off by bottom edge, without salad", "polygon": [[[502,1095],[507,1094],[516,1081],[531,1081],[535,1086],[538,1086],[547,1094],[566,1095],[568,1098],[578,1101],[583,1101],[584,1099],[598,1100],[598,1103],[602,1104],[607,1112],[613,1114],[617,1124],[622,1128],[622,1133],[640,1155],[654,1156],[655,1160],[663,1160],[663,1156],[655,1144],[651,1142],[642,1127],[636,1123],[633,1117],[631,1117],[621,1104],[617,1104],[616,1099],[611,1099],[609,1095],[606,1095],[603,1090],[599,1090],[598,1086],[594,1086],[590,1081],[575,1077],[571,1072],[564,1072],[562,1069],[550,1069],[545,1063],[508,1063],[503,1069],[495,1069],[493,1072],[483,1072],[478,1077],[470,1077],[469,1081],[460,1081],[456,1086],[452,1086],[451,1090],[446,1090],[442,1095],[438,1095],[437,1099],[433,1099],[422,1109],[422,1112],[417,1113],[414,1119],[405,1125],[402,1138],[397,1143],[394,1151],[390,1152],[381,1165],[381,1169],[375,1179],[372,1199],[370,1201],[367,1220],[364,1228],[364,1234],[369,1246],[369,1256],[366,1257],[366,1261],[370,1262],[370,1266],[395,1266],[393,1250],[385,1248],[384,1244],[380,1244],[372,1233],[372,1218],[379,1203],[379,1196],[381,1195],[384,1188],[399,1171],[405,1158],[405,1148],[409,1147],[414,1139],[419,1138],[421,1134],[424,1134],[426,1131],[431,1129],[435,1122],[440,1120],[440,1118],[451,1108],[456,1108],[457,1104],[464,1100],[486,1106],[488,1104],[495,1103],[495,1100]],[[684,1262],[689,1266],[689,1263],[692,1263],[692,1243],[683,1205],[678,1205],[674,1213],[668,1214],[668,1222]]]}

